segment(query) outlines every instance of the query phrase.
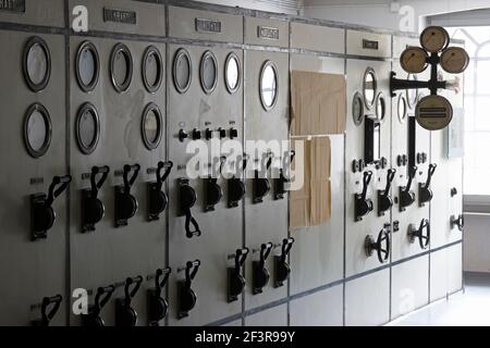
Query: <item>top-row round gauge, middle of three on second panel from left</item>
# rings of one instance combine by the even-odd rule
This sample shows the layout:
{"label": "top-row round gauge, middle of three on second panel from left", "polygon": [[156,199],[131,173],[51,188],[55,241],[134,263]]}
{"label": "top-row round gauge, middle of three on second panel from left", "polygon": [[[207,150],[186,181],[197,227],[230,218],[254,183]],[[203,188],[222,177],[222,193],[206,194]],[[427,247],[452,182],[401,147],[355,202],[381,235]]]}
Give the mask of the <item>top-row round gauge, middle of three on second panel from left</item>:
{"label": "top-row round gauge, middle of three on second panel from left", "polygon": [[112,85],[118,92],[126,91],[133,79],[133,57],[124,44],[112,49],[110,73]]}

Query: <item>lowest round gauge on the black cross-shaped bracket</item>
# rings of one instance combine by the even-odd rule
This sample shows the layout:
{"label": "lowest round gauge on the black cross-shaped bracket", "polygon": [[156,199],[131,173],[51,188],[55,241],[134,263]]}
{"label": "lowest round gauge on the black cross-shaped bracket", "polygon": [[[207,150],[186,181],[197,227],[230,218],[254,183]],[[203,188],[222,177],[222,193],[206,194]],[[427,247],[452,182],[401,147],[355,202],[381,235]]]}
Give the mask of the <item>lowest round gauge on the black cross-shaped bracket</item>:
{"label": "lowest round gauge on the black cross-shaped bracket", "polygon": [[418,124],[427,130],[445,128],[453,119],[453,108],[441,96],[427,96],[420,99],[415,110]]}

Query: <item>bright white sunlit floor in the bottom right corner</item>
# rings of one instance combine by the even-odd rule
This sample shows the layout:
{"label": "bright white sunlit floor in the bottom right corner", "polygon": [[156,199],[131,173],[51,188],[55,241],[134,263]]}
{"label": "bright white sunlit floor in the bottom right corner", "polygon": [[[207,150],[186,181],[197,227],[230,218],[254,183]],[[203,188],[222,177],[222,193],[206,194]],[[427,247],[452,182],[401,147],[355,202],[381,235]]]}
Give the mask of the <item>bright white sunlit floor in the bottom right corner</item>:
{"label": "bright white sunlit floor in the bottom right corner", "polygon": [[465,274],[465,291],[434,302],[389,325],[488,326],[490,325],[490,274]]}

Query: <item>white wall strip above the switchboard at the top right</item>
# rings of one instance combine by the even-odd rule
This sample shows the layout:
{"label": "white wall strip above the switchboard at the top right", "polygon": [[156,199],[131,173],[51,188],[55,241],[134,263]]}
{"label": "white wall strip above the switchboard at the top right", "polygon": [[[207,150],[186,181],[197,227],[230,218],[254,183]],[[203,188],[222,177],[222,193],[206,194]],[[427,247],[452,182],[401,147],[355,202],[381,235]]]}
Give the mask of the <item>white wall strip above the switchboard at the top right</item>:
{"label": "white wall strip above the switchboard at the top right", "polygon": [[[411,8],[406,8],[411,7]],[[413,9],[413,28],[418,30],[428,15],[490,8],[488,0],[304,0],[302,14],[317,18],[375,27],[404,29]],[[402,10],[405,14],[400,14]],[[412,17],[412,16],[411,16]]]}

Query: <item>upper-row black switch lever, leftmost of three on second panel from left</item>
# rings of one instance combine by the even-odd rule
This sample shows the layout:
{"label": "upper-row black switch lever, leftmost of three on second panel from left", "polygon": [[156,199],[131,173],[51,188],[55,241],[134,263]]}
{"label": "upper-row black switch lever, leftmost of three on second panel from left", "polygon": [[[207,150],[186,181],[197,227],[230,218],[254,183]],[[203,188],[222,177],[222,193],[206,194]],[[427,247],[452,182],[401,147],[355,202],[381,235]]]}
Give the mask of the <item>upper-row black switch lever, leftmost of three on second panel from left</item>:
{"label": "upper-row black switch lever, leftmost of three on second panel from left", "polygon": [[[82,190],[82,232],[96,229],[106,212],[103,203],[98,199],[99,190],[109,175],[109,166],[94,166],[90,173],[90,188]],[[97,177],[100,178],[97,181]]]}

